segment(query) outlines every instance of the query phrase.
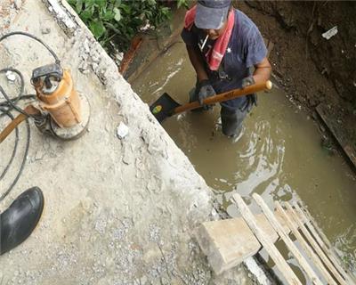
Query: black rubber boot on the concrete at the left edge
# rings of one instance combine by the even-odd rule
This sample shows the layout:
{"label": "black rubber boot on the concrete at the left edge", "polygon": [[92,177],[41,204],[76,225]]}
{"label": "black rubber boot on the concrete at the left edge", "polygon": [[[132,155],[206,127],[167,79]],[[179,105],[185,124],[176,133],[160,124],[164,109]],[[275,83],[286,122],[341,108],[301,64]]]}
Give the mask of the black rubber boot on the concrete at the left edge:
{"label": "black rubber boot on the concrete at the left edge", "polygon": [[18,246],[35,229],[44,209],[44,195],[38,187],[24,191],[0,215],[0,255]]}

